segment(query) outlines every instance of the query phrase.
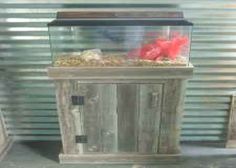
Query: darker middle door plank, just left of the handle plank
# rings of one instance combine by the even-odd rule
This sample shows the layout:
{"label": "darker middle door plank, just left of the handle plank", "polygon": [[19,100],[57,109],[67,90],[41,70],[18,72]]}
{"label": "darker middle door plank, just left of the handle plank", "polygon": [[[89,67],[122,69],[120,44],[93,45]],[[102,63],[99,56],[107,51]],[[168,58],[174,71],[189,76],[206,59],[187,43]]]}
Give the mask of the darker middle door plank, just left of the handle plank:
{"label": "darker middle door plank, just left of the handle plank", "polygon": [[138,100],[136,84],[117,85],[119,152],[137,151]]}

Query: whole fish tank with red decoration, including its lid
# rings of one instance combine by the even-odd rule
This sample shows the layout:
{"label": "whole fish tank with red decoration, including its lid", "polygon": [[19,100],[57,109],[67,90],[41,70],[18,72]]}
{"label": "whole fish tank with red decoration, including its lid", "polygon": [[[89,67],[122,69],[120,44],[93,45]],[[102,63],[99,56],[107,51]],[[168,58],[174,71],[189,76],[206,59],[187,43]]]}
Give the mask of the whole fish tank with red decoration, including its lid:
{"label": "whole fish tank with red decoration, including its lid", "polygon": [[59,12],[52,66],[188,66],[192,26],[182,12]]}

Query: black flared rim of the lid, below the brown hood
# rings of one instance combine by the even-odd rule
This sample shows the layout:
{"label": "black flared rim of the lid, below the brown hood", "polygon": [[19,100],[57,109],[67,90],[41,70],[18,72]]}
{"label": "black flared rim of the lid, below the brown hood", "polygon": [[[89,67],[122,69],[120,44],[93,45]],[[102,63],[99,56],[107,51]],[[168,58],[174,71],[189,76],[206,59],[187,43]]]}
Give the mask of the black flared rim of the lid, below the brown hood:
{"label": "black flared rim of the lid, below the brown hood", "polygon": [[48,26],[193,26],[182,19],[56,19]]}

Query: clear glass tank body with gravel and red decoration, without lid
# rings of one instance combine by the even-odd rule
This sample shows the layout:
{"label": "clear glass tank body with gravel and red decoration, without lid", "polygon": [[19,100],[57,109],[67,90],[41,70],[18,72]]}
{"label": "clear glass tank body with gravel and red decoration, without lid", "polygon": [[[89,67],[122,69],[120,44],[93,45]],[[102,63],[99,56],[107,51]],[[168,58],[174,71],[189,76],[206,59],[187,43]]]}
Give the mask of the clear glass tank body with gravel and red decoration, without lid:
{"label": "clear glass tank body with gravel and red decoration, without lid", "polygon": [[186,66],[191,26],[50,26],[54,66]]}

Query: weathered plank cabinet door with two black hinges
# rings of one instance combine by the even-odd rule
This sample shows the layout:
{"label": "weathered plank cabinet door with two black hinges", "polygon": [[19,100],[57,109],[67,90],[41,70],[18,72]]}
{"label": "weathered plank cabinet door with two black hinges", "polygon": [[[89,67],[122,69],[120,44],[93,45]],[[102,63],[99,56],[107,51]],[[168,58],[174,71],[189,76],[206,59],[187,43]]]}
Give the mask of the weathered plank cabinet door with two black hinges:
{"label": "weathered plank cabinet door with two black hinges", "polygon": [[71,97],[79,153],[157,153],[162,84],[75,82]]}

